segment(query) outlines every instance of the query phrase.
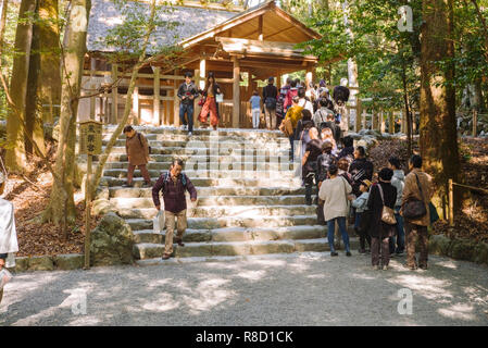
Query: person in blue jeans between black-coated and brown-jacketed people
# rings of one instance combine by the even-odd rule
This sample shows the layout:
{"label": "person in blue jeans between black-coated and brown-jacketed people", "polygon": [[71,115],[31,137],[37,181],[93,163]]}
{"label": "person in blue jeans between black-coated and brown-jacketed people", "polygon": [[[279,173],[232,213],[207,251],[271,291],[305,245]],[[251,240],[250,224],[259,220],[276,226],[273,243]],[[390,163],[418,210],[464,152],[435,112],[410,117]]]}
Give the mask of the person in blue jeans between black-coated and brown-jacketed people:
{"label": "person in blue jeans between black-coated and brown-jacketed people", "polygon": [[405,250],[405,231],[403,229],[403,216],[400,215],[403,187],[405,186],[405,174],[401,170],[400,160],[396,157],[388,159],[388,167],[393,171],[391,185],[397,188],[397,201],[395,202],[395,219],[397,219],[397,236],[390,237],[390,256],[401,254]]}

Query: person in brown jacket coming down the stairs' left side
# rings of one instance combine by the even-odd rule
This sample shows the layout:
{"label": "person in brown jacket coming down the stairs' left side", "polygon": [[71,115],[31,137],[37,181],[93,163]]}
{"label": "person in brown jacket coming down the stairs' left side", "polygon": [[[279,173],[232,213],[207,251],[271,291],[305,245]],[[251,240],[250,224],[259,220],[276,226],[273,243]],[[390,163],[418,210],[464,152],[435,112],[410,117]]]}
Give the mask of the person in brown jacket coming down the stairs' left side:
{"label": "person in brown jacket coming down the stairs' left side", "polygon": [[142,177],[145,178],[145,185],[142,187],[151,187],[152,182],[147,169],[149,163],[150,147],[148,140],[141,134],[136,132],[133,126],[128,125],[124,127],[125,140],[125,151],[128,158],[128,169],[127,169],[127,183],[122,185],[123,187],[133,187],[133,176],[136,166],[139,167]]}

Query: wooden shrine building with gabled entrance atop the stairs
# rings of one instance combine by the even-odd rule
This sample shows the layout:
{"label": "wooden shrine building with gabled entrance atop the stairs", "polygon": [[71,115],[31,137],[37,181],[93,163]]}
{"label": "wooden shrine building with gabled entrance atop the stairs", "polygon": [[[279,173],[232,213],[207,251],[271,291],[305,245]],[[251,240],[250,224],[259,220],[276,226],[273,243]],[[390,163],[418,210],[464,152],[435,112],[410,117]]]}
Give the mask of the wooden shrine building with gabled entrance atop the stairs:
{"label": "wooden shrine building with gabled entrance atop the stairs", "polygon": [[[166,14],[167,15],[167,14]],[[148,125],[179,125],[179,104],[176,91],[184,74],[190,71],[193,79],[203,89],[209,72],[214,72],[224,94],[220,103],[221,127],[250,127],[249,99],[258,82],[275,77],[280,87],[281,76],[297,71],[306,71],[306,79],[314,78],[317,58],[303,54],[296,44],[321,38],[301,22],[279,9],[274,1],[267,1],[247,11],[225,9],[220,5],[202,7],[185,2],[176,5],[172,20],[180,21],[179,45],[184,58],[171,70],[167,64],[155,60],[138,73],[133,95],[132,122]],[[87,95],[121,77],[122,69],[108,64],[103,53],[110,51],[98,47],[96,39],[120,23],[120,13],[110,0],[92,0],[88,24],[88,39],[83,88]],[[154,33],[151,41],[171,40],[173,33]],[[148,50],[151,54],[151,50]],[[130,72],[126,72],[118,88],[112,92],[82,99],[78,120],[95,117],[115,124],[123,116]],[[126,78],[125,78],[126,77]],[[247,85],[245,85],[247,83]],[[195,122],[200,112],[195,102]]]}

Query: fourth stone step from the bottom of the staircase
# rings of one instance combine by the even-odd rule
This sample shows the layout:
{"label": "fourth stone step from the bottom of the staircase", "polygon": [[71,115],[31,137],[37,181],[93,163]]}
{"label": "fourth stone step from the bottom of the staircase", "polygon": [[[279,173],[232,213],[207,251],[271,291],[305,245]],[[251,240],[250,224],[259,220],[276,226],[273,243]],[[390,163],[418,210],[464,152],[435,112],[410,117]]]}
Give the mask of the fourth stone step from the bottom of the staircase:
{"label": "fourth stone step from the bottom of the staircase", "polygon": [[[112,198],[110,200],[117,209],[153,208],[152,198]],[[304,204],[305,198],[301,195],[288,196],[198,196],[192,203],[198,207],[222,207],[234,206],[297,206]],[[225,206],[225,207],[223,207]],[[253,207],[248,207],[253,208]]]}

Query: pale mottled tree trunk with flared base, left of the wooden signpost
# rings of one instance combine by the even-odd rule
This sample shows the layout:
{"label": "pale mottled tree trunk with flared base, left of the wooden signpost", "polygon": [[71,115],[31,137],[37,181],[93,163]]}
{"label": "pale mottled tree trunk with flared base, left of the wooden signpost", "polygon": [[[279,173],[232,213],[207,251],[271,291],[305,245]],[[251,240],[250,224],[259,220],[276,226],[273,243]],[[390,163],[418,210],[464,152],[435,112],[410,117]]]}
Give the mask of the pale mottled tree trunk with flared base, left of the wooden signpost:
{"label": "pale mottled tree trunk with flared base, left of the wooden signpost", "polygon": [[[74,0],[72,9],[79,5],[86,9],[86,20],[90,15],[90,0]],[[71,12],[73,16],[73,12]],[[72,24],[76,23],[76,26]],[[87,24],[88,25],[88,24]],[[86,53],[86,30],[80,30],[79,18],[67,22],[64,34],[64,52],[62,60],[62,90],[60,113],[60,138],[57,149],[54,172],[62,181],[54,181],[47,210],[42,220],[60,224],[65,217],[68,223],[76,219],[74,203],[76,113],[83,77],[83,65]]]}

